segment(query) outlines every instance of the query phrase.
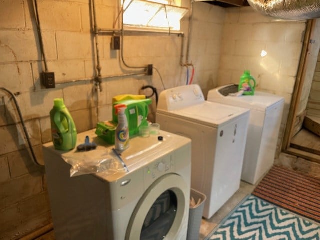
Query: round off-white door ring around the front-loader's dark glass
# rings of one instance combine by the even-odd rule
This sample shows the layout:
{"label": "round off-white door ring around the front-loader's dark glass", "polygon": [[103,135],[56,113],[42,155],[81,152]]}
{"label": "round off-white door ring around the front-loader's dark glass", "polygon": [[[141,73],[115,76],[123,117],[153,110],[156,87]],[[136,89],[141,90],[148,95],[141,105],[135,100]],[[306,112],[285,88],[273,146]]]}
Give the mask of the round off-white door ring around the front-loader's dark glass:
{"label": "round off-white door ring around the front-loader's dark glass", "polygon": [[[161,236],[161,239],[178,239],[181,234],[181,230],[185,230],[186,235],[190,187],[188,187],[187,183],[181,176],[171,173],[159,177],[144,192],[130,218],[125,235],[126,240],[143,239],[141,238],[142,228],[149,215],[149,210],[158,197],[166,191],[173,193],[173,198],[176,199],[176,210],[174,210],[174,219],[172,224],[170,224],[165,235]],[[163,214],[163,217],[166,217],[165,214]]]}

